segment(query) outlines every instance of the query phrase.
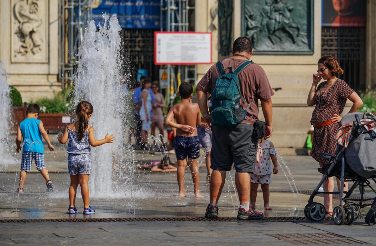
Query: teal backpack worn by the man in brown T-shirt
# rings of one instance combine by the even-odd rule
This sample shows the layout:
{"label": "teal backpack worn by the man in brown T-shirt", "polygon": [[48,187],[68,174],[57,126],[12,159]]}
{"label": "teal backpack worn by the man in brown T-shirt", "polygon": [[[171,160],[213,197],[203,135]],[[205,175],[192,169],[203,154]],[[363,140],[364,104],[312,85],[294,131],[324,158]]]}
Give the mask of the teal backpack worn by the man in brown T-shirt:
{"label": "teal backpack worn by the man in brown T-shirt", "polygon": [[246,110],[240,105],[240,99],[246,103],[246,100],[241,95],[238,74],[252,61],[245,61],[231,72],[226,74],[221,62],[217,63],[217,69],[220,77],[217,78],[212,89],[210,101],[212,102],[211,119],[215,126],[236,126],[246,118],[247,110],[252,102],[248,105]]}

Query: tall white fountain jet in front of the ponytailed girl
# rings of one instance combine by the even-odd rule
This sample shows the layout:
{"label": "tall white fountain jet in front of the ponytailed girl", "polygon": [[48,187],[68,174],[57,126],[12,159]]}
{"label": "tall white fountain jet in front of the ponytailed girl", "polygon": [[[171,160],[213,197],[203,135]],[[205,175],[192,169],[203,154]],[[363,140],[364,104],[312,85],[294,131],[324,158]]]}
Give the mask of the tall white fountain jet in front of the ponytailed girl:
{"label": "tall white fountain jet in front of the ponytailed girl", "polygon": [[[94,147],[91,150],[92,174],[89,180],[93,196],[134,195],[135,153],[123,148],[123,123],[125,102],[121,87],[121,27],[116,15],[103,15],[99,30],[91,21],[85,30],[78,56],[80,62],[75,76],[75,104],[85,100],[93,105],[94,112],[89,122],[95,129],[96,138],[114,133],[115,142]],[[112,181],[113,158],[121,163],[116,180]],[[114,184],[114,185],[112,185]],[[132,190],[129,190],[132,189]]]}

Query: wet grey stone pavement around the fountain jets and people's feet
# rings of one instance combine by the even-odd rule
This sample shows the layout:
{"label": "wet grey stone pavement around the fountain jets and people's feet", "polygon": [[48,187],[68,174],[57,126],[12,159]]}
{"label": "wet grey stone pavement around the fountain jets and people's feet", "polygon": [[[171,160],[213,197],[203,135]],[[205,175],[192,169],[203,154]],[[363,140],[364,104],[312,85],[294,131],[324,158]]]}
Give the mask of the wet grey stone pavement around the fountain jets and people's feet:
{"label": "wet grey stone pavement around the fountain jets and people's feet", "polygon": [[[281,168],[279,168],[279,173],[272,175],[271,178],[270,206],[273,210],[264,211],[262,193],[259,188],[256,210],[264,212],[267,220],[258,222],[152,222],[150,218],[183,219],[199,218],[204,215],[209,202],[209,186],[206,185],[206,167],[203,157],[199,160],[200,190],[205,198],[194,198],[189,169],[186,171],[187,196],[184,198],[177,196],[176,173],[152,173],[138,170],[135,181],[127,189],[106,194],[91,193],[90,204],[96,210],[96,214],[85,216],[82,214],[83,203],[79,188],[76,198],[79,213],[74,215],[67,213],[69,175],[65,150],[64,146],[57,145],[55,152],[46,151],[46,166],[54,183],[54,192],[49,195],[46,194],[45,181],[39,172],[36,172],[35,166],[27,175],[25,193],[18,196],[14,190],[15,183],[18,183],[19,166],[17,167],[17,163],[11,160],[0,165],[0,221],[10,219],[65,219],[64,221],[88,219],[90,221],[91,219],[92,222],[0,223],[0,244],[33,245],[39,242],[40,245],[40,242],[45,242],[46,245],[78,243],[92,245],[111,240],[111,244],[123,245],[214,245],[218,243],[235,245],[247,242],[246,240],[258,240],[261,244],[291,245],[299,237],[303,237],[304,240],[309,238],[309,240],[319,240],[308,240],[309,244],[317,244],[325,237],[326,242],[330,244],[334,242],[338,244],[374,243],[374,238],[371,236],[374,228],[366,226],[364,219],[358,219],[352,226],[341,227],[335,225],[329,218],[317,223],[305,220],[303,208],[310,192],[321,179],[321,174],[317,172],[317,163],[310,156],[283,157],[301,194],[294,196]],[[148,163],[160,160],[161,155],[136,151],[136,159],[143,159],[143,162]],[[170,159],[176,160],[174,155],[170,155]],[[286,168],[285,172],[287,172]],[[114,170],[112,180],[116,181],[118,175],[118,171]],[[226,184],[218,202],[220,216],[228,217],[228,219],[233,219],[238,210],[234,177],[234,171],[228,172]],[[289,176],[288,178],[291,181]],[[294,188],[294,184],[291,183],[291,185]],[[374,196],[373,193],[366,195]],[[323,198],[317,196],[315,201],[322,203]],[[334,199],[334,205],[338,202],[338,199]],[[366,211],[363,211],[362,215],[365,213]],[[95,222],[100,218],[122,218],[128,222]],[[129,222],[132,218],[146,218],[147,221]],[[289,221],[275,221],[278,219]],[[292,236],[291,240],[287,238],[286,241],[282,240],[286,235],[270,235],[276,233],[306,234]]]}

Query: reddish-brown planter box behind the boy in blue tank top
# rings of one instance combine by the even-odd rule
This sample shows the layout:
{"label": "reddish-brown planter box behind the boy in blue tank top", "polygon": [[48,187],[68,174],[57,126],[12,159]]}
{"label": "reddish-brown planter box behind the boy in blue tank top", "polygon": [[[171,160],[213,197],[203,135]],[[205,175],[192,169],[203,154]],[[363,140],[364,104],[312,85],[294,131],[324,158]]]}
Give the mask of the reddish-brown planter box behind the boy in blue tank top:
{"label": "reddish-brown planter box behind the boy in blue tank top", "polygon": [[[27,107],[12,107],[12,130],[17,130],[18,124],[26,118]],[[43,122],[46,131],[61,131],[70,124],[70,114],[40,113],[39,120]]]}

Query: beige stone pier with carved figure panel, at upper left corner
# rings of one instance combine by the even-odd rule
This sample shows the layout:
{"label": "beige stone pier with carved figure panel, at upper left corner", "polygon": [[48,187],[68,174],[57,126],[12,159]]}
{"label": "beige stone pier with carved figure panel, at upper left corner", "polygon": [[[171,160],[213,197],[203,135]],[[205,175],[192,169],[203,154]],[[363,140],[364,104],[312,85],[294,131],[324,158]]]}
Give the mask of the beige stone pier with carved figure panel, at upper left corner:
{"label": "beige stone pier with carved figure panel, at upper left corner", "polygon": [[61,90],[58,0],[0,1],[0,60],[24,102]]}

